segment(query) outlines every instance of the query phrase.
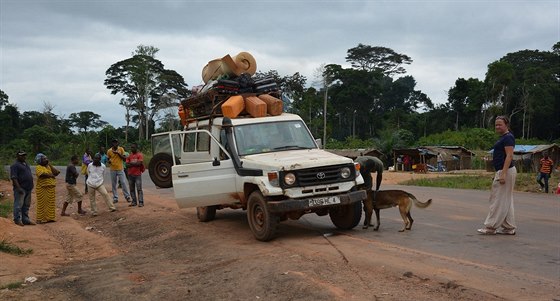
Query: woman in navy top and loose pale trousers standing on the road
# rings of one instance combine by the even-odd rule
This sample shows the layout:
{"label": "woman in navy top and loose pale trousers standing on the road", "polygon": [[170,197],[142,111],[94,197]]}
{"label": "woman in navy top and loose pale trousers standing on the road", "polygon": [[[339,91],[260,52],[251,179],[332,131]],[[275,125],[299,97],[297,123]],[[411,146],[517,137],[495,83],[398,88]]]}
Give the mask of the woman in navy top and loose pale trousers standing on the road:
{"label": "woman in navy top and loose pale trousers standing on the road", "polygon": [[496,174],[490,192],[490,212],[484,221],[485,227],[477,231],[480,234],[515,235],[517,228],[513,209],[513,187],[517,177],[513,162],[515,137],[509,131],[509,119],[505,116],[496,117],[494,128],[500,138],[494,144],[492,158]]}

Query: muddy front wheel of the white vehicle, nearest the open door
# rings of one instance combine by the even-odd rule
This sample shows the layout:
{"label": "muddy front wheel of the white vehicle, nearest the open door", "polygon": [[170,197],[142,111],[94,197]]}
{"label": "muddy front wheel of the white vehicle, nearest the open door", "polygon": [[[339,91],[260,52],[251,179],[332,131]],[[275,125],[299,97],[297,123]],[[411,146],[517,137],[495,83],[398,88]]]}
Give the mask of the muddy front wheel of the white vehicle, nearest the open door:
{"label": "muddy front wheel of the white vehicle, nearest the open door", "polygon": [[257,240],[269,241],[276,236],[280,218],[268,211],[260,191],[254,191],[247,200],[247,220]]}

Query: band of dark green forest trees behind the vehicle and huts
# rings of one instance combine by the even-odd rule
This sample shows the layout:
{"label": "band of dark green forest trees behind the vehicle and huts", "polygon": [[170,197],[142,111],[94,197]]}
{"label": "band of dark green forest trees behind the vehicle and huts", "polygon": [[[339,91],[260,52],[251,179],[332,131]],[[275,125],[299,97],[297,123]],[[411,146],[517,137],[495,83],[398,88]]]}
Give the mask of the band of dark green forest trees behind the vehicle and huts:
{"label": "band of dark green forest trees behind the vehicle and huts", "polygon": [[[96,152],[113,138],[125,147],[138,142],[151,157],[150,134],[179,129],[178,104],[191,96],[183,77],[157,59],[158,51],[139,45],[130,58],[108,66],[105,86],[121,97],[123,127],[101,120],[100,111],[58,116],[56,100],[38,99],[37,111],[20,112],[17,99],[0,90],[0,164],[10,164],[18,150],[66,164],[71,155]],[[560,143],[560,42],[550,51],[505,54],[488,64],[484,79],[457,78],[442,104],[415,89],[413,75],[406,74],[413,60],[406,54],[359,44],[348,49],[346,61],[349,67],[318,66],[313,82],[275,70],[253,78],[274,77],[284,110],[300,115],[315,138],[326,137],[326,148],[375,148],[386,162],[392,149],[420,145],[487,151],[496,139],[497,115],[510,118],[517,144]]]}

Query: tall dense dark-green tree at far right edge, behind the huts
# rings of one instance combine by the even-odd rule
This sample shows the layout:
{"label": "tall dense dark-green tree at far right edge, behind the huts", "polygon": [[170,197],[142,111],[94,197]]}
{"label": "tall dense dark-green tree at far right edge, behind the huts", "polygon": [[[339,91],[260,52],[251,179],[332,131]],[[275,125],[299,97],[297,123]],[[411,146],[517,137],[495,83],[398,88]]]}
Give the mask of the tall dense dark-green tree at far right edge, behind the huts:
{"label": "tall dense dark-green tree at far right edge, behind the huts", "polygon": [[[552,141],[560,136],[559,43],[552,51],[508,53],[489,65],[485,83],[494,101],[490,118],[508,115],[514,132],[525,138]],[[501,89],[499,89],[501,87]],[[500,90],[500,93],[496,91]]]}

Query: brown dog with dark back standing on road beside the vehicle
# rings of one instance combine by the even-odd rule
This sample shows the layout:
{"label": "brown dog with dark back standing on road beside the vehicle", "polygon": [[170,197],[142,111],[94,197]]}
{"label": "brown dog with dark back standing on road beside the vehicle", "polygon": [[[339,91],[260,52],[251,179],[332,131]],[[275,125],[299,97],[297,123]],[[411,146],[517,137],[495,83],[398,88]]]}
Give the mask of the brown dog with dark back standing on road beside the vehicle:
{"label": "brown dog with dark back standing on road beside the vehicle", "polygon": [[432,203],[432,199],[427,202],[422,203],[416,199],[412,194],[403,190],[378,190],[378,191],[368,191],[367,198],[364,200],[364,211],[366,213],[363,229],[367,229],[371,224],[371,214],[375,210],[375,216],[377,217],[377,224],[374,231],[379,230],[379,210],[387,209],[391,207],[399,206],[399,212],[404,221],[404,228],[399,230],[403,232],[404,230],[410,230],[412,228],[412,223],[414,220],[410,215],[410,209],[412,208],[412,203],[419,208],[426,208]]}

